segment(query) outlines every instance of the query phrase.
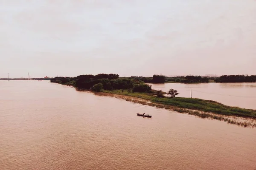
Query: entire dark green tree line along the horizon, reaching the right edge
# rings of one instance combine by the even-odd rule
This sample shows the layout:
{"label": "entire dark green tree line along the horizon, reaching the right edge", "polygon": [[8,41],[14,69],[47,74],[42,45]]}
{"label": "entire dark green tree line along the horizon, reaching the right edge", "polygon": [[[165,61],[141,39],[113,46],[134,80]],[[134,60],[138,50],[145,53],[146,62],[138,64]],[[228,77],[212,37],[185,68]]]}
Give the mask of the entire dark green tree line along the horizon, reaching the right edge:
{"label": "entire dark green tree line along the horizon, reaching the right edge", "polygon": [[[106,90],[112,89],[133,89],[134,84],[145,83],[165,83],[165,82],[180,82],[180,83],[207,83],[212,82],[256,82],[256,75],[223,75],[221,77],[201,77],[201,76],[186,76],[186,77],[166,77],[164,75],[154,74],[153,77],[119,77],[118,74],[97,74],[97,75],[80,75],[78,77],[55,77],[51,82],[74,85],[78,88],[90,89],[97,83],[102,83],[102,88]],[[136,85],[137,86],[137,85]],[[144,89],[145,85],[139,87]],[[135,91],[137,87],[135,87]],[[143,90],[140,90],[143,91]]]}

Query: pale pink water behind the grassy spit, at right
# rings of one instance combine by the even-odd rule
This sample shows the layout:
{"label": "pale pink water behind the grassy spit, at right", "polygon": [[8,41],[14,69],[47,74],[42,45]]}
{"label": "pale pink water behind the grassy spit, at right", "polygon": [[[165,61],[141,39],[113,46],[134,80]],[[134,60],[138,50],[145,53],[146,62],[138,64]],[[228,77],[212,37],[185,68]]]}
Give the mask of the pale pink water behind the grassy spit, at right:
{"label": "pale pink water behind the grassy spit, at right", "polygon": [[178,91],[179,97],[192,97],[214,100],[224,105],[241,108],[256,109],[256,83],[201,83],[201,84],[150,84],[153,89],[169,91],[173,88]]}

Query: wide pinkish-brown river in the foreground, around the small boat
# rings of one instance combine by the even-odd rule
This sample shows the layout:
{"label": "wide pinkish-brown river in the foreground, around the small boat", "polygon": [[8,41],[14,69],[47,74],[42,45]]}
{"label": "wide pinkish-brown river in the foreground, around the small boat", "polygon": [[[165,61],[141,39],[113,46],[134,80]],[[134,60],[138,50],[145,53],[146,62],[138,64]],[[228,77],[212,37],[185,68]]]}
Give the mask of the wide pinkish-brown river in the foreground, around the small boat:
{"label": "wide pinkish-brown river in the foreground, around the small boat", "polygon": [[255,170],[255,141],[255,128],[48,81],[0,81],[1,170]]}

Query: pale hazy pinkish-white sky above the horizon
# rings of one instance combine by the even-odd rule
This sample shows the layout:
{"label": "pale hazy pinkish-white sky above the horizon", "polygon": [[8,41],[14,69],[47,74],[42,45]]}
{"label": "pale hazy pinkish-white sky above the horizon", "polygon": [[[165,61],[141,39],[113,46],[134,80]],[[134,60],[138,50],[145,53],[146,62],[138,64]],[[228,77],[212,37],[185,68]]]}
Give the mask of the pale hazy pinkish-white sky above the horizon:
{"label": "pale hazy pinkish-white sky above the horizon", "polygon": [[0,77],[256,74],[256,0],[0,0]]}

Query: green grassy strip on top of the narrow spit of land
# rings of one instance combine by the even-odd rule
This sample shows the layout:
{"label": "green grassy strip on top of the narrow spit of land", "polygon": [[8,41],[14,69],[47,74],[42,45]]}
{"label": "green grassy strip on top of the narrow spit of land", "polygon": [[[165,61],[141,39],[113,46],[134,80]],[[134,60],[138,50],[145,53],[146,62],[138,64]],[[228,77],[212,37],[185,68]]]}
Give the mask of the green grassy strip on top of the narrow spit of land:
{"label": "green grassy strip on top of the narrow spit of land", "polygon": [[256,110],[243,109],[238,107],[226,106],[221,103],[204,100],[204,99],[191,99],[183,97],[175,98],[158,98],[154,93],[129,93],[128,91],[114,90],[114,91],[103,91],[105,93],[119,94],[125,96],[133,96],[140,99],[149,100],[152,103],[175,106],[177,108],[192,109],[197,111],[210,112],[215,114],[221,114],[226,116],[240,116],[256,118]]}

